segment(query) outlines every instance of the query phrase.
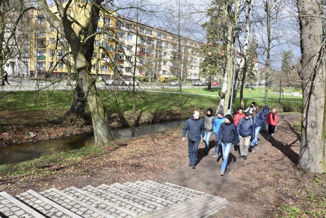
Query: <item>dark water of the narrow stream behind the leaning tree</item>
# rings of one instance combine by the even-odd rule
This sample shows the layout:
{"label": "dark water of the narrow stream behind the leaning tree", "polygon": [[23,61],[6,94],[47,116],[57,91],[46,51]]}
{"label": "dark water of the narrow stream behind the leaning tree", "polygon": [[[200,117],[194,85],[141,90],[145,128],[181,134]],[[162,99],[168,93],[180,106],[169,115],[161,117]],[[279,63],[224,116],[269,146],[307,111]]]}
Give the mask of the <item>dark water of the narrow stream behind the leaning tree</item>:
{"label": "dark water of the narrow stream behind the leaning tree", "polygon": [[[114,136],[118,139],[130,139],[139,137],[140,135],[153,134],[155,132],[169,130],[183,123],[184,121],[173,121],[156,124],[144,124],[140,126],[113,129],[113,132]],[[0,147],[0,165],[30,160],[40,155],[55,154],[93,144],[94,138],[91,134],[88,134],[50,141]]]}

